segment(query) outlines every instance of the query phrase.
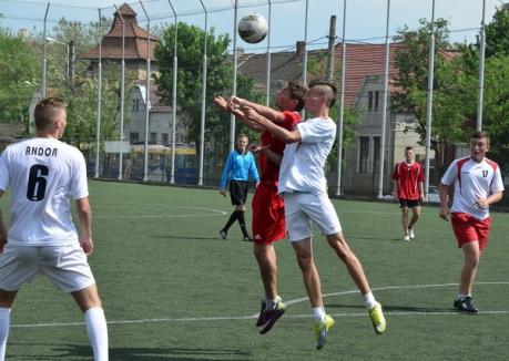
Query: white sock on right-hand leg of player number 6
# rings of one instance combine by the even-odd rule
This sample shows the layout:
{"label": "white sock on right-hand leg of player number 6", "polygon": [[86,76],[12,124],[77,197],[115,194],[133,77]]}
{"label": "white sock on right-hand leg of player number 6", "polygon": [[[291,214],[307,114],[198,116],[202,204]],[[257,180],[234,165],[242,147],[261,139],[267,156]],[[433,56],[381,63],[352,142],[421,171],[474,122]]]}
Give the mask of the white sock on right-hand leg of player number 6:
{"label": "white sock on right-hand leg of player number 6", "polygon": [[95,361],[108,361],[108,326],[104,311],[93,307],[84,312],[86,333]]}

